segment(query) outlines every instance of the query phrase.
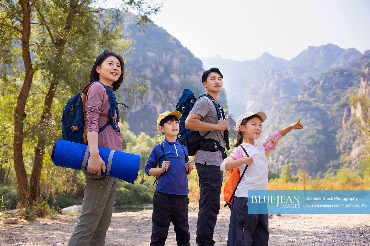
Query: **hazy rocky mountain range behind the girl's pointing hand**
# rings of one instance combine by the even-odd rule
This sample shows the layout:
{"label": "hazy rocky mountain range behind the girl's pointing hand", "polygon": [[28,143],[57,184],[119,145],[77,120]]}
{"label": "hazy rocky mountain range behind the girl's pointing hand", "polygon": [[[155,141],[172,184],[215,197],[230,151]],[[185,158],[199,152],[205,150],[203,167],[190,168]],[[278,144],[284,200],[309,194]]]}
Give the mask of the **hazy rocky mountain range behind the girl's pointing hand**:
{"label": "hazy rocky mountain range behind the girl's pointing hand", "polygon": [[[270,156],[269,166],[279,172],[288,164],[294,173],[303,169],[316,174],[339,168],[348,163],[346,155],[356,156],[363,148],[359,135],[350,127],[354,111],[348,101],[364,83],[361,73],[369,66],[369,53],[329,44],[309,47],[290,61],[268,53],[246,62],[220,57],[202,61],[205,65],[216,61],[221,72],[232,75],[232,81],[224,79],[231,113],[267,113],[259,142],[302,118],[305,130],[284,137]],[[240,88],[243,93],[238,93]]]}

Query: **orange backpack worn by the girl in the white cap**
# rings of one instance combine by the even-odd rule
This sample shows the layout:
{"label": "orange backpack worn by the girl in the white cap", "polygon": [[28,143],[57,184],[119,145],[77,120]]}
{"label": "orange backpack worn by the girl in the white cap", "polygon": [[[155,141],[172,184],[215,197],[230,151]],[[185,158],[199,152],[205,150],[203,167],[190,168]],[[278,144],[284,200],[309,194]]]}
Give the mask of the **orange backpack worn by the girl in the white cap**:
{"label": "orange backpack worn by the girl in the white cap", "polygon": [[[245,154],[249,157],[243,146],[241,147],[244,150]],[[223,200],[226,202],[225,206],[223,206],[224,208],[226,206],[229,206],[231,210],[232,200],[234,198],[236,188],[238,188],[238,185],[242,180],[247,167],[248,165],[246,165],[242,175],[240,175],[239,167],[235,167],[234,169],[228,171],[228,173],[226,174],[225,187],[223,187]]]}

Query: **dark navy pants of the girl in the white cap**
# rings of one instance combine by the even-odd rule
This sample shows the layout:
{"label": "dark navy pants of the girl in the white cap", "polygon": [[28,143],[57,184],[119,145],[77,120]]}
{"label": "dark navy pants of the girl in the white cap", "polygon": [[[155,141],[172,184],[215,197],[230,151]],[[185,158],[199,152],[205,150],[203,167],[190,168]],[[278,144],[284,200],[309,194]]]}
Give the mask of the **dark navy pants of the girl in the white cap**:
{"label": "dark navy pants of the girl in the white cap", "polygon": [[234,197],[228,235],[228,246],[267,246],[268,214],[248,214],[248,198]]}

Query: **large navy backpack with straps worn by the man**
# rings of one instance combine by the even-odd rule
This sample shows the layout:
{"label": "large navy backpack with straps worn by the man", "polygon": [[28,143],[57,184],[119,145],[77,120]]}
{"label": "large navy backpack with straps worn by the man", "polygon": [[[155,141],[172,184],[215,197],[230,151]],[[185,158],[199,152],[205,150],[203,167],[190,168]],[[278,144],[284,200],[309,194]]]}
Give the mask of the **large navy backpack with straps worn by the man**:
{"label": "large navy backpack with straps worn by the man", "polygon": [[[223,110],[221,109],[221,106],[217,103],[215,99],[213,99],[208,94],[203,94],[198,97],[198,99],[195,97],[196,95],[188,89],[185,89],[181,97],[179,98],[178,103],[176,104],[176,110],[180,111],[182,114],[182,117],[179,119],[179,134],[177,135],[177,139],[179,143],[182,145],[185,145],[188,148],[189,156],[194,156],[196,152],[199,149],[207,150],[207,151],[218,151],[221,149],[221,151],[224,153],[225,149],[220,146],[218,141],[214,139],[204,139],[211,131],[206,132],[205,135],[201,136],[199,134],[199,131],[192,131],[190,129],[185,128],[185,120],[189,115],[189,112],[194,107],[194,104],[196,100],[198,100],[201,97],[208,97],[213,104],[216,107],[217,112],[217,118],[219,120],[225,119],[225,114]],[[204,141],[203,141],[204,140]],[[229,150],[229,131],[224,131],[224,140],[226,143],[226,148]]]}

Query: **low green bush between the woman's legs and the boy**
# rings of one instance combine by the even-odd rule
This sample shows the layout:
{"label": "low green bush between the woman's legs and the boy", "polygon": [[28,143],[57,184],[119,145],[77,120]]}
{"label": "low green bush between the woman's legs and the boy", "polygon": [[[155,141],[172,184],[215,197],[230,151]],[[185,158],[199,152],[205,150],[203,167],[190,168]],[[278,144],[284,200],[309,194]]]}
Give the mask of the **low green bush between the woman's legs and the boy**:
{"label": "low green bush between the woman's legs and the boy", "polygon": [[155,187],[150,182],[129,184],[124,181],[118,181],[115,196],[116,206],[151,203],[154,190]]}

